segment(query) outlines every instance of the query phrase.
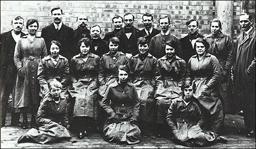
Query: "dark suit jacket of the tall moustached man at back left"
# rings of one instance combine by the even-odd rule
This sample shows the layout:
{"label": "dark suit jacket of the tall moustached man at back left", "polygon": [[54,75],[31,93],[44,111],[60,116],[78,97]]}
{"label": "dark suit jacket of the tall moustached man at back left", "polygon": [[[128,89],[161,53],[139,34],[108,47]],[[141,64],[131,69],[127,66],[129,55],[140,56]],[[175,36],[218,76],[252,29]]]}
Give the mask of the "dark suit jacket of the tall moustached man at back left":
{"label": "dark suit jacket of the tall moustached man at back left", "polygon": [[41,37],[44,38],[47,53],[50,54],[50,42],[52,40],[58,40],[61,44],[59,50],[60,55],[70,60],[74,55],[78,54],[74,50],[74,33],[71,27],[63,24],[57,32],[53,23],[42,28]]}

